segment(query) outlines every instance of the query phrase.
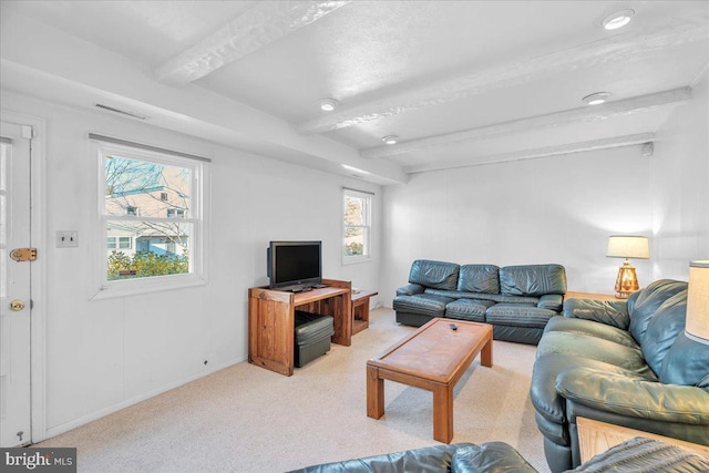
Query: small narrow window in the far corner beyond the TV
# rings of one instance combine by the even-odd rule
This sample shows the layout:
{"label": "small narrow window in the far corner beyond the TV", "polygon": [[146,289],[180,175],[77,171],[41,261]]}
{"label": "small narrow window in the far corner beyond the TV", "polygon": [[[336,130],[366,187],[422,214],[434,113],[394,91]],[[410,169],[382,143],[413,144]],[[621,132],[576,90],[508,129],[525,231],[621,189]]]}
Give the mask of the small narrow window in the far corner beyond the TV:
{"label": "small narrow window in the far corner beyond the TV", "polygon": [[371,257],[371,194],[345,189],[342,263],[358,263]]}

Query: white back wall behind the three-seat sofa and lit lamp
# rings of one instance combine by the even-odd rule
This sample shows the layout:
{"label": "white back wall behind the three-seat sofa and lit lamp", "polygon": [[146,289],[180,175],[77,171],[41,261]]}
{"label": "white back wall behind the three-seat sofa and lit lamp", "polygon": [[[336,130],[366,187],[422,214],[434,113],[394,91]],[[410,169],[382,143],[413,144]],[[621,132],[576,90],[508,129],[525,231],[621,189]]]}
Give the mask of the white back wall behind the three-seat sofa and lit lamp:
{"label": "white back wall behind the three-seat sofa and lit lamp", "polygon": [[650,234],[649,161],[631,146],[417,174],[386,187],[383,222],[389,306],[417,258],[558,263],[569,289],[612,294],[623,261],[606,258],[608,235]]}

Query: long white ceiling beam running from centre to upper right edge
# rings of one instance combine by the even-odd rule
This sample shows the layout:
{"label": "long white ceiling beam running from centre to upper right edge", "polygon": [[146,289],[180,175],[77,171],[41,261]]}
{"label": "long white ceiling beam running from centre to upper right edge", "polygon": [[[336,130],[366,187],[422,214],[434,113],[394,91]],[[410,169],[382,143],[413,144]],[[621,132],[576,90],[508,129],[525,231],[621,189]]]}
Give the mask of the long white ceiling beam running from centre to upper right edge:
{"label": "long white ceiling beam running from centre to upper right edge", "polygon": [[665,28],[649,33],[643,30],[629,31],[527,61],[483,71],[472,70],[425,88],[404,90],[388,99],[300,123],[297,131],[314,134],[340,130],[492,90],[521,85],[563,72],[615,62],[636,62],[651,56],[658,50],[708,38],[709,12],[697,12],[693,16],[674,18]]}

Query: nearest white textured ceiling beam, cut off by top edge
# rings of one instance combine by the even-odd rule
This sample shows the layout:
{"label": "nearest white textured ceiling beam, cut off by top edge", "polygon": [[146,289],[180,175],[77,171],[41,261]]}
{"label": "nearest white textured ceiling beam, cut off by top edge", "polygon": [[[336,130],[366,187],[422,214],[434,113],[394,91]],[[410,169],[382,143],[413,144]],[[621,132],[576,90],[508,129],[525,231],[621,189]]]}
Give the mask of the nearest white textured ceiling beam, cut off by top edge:
{"label": "nearest white textured ceiling beam, cut off by top edge", "polygon": [[185,85],[284,39],[348,1],[264,1],[155,70],[157,81]]}

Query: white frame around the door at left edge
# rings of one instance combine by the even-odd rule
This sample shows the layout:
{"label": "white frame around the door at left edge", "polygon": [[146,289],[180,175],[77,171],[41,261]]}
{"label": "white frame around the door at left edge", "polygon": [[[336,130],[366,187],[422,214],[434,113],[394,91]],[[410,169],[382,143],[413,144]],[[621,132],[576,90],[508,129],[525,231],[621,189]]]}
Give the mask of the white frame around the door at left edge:
{"label": "white frame around the door at left edge", "polygon": [[45,121],[34,116],[0,110],[3,122],[31,126],[33,131],[30,148],[30,245],[37,248],[37,260],[32,261],[30,276],[32,309],[30,322],[30,395],[31,442],[47,438],[47,195],[45,188]]}

